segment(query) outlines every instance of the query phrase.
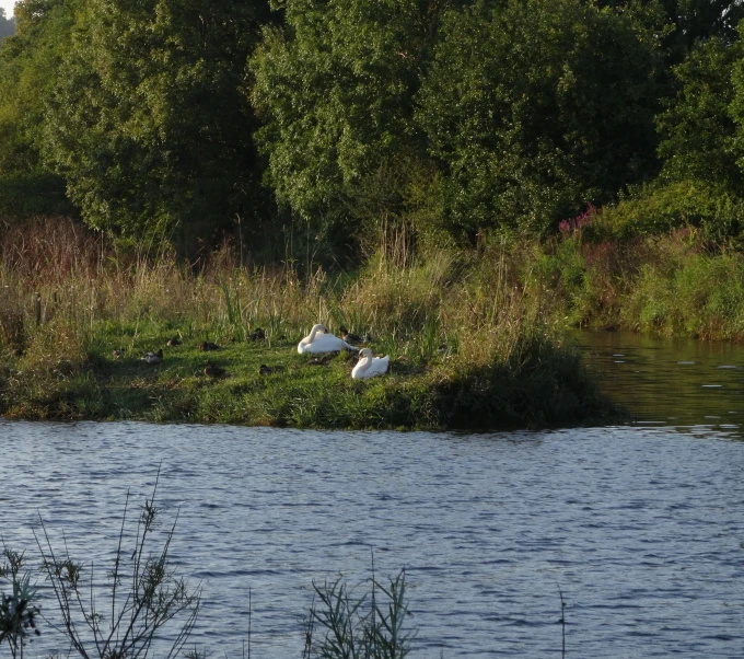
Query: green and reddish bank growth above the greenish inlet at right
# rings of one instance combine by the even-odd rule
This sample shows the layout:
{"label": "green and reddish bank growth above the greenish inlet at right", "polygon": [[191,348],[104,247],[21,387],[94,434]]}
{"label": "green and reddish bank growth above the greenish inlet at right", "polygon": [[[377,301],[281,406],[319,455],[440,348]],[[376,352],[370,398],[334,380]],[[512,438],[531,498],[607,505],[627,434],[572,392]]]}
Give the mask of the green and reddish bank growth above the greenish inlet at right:
{"label": "green and reddish bank growth above the greenish inlet at right", "polygon": [[565,234],[536,257],[569,324],[744,338],[744,254],[690,227],[630,239],[586,233]]}

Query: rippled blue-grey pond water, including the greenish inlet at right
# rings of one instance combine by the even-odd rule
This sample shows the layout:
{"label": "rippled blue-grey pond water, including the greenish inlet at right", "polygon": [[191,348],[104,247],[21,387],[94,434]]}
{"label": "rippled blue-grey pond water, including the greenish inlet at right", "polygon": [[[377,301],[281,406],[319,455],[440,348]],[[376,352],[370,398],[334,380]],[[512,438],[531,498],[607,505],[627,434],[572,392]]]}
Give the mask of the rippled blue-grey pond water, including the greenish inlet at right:
{"label": "rippled blue-grey pond water, including the greenish inlet at right", "polygon": [[[363,582],[373,552],[377,576],[406,568],[411,657],[560,657],[560,589],[568,657],[741,659],[742,380],[717,369],[742,352],[675,367],[659,346],[600,338],[590,358],[638,401],[637,424],[473,435],[0,419],[0,535],[33,556],[40,516],[57,548],[103,573],[127,490],[142,502],[160,464],[178,574],[202,588],[191,641],[213,657],[243,656],[251,592],[251,656],[299,658],[313,581]],[[699,388],[676,375],[686,366]],[[43,629],[26,657],[66,649]]]}

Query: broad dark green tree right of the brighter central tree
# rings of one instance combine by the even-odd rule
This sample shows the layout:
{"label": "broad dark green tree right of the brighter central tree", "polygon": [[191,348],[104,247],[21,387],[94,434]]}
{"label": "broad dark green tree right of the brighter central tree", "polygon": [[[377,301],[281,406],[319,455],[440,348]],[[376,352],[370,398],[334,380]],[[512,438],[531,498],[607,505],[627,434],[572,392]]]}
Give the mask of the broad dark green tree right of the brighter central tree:
{"label": "broad dark green tree right of the brighter central tree", "polygon": [[654,51],[624,15],[578,0],[450,12],[418,119],[442,166],[449,231],[545,231],[655,167]]}

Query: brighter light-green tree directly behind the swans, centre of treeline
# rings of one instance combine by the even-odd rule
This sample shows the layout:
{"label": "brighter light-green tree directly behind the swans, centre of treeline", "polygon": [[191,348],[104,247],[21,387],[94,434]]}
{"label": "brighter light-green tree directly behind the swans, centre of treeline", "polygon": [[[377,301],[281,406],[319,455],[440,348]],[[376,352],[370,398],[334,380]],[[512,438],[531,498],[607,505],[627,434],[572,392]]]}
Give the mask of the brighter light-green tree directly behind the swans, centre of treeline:
{"label": "brighter light-green tree directly behind the swans, centre of treeline", "polygon": [[278,200],[336,250],[397,216],[421,174],[414,122],[442,9],[435,0],[295,0],[251,70]]}

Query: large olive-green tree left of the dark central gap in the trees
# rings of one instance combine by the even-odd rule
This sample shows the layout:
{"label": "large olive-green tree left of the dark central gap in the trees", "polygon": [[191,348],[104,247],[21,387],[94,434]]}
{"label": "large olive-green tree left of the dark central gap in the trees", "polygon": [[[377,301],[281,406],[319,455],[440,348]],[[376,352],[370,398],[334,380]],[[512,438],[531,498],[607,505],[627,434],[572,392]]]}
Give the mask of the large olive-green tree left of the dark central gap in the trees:
{"label": "large olive-green tree left of the dark central gap in the trees", "polygon": [[81,0],[45,144],[93,227],[190,250],[258,203],[244,62],[260,0]]}

